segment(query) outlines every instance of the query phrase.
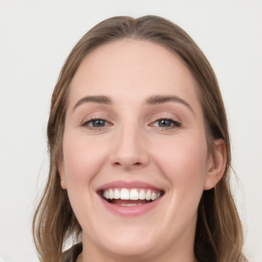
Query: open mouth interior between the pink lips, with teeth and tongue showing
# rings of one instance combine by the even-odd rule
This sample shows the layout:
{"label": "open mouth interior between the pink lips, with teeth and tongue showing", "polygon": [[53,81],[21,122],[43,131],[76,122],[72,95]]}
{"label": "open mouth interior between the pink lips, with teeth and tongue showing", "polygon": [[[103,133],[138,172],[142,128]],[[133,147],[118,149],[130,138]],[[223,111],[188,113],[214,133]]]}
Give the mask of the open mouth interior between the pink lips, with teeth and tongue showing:
{"label": "open mouth interior between the pink lips, with teeth and tongue showing", "polygon": [[108,203],[119,206],[138,206],[156,201],[164,191],[156,189],[108,188],[99,191],[100,196]]}

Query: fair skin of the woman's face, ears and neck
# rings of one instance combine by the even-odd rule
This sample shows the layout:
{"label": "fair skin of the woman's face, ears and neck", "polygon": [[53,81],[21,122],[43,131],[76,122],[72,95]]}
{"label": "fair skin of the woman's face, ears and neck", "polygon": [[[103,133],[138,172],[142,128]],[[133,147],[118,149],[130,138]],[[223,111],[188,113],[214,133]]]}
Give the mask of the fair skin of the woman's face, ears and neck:
{"label": "fair skin of the woman's face, ears and neck", "polygon": [[[78,261],[196,261],[198,204],[203,190],[221,179],[226,162],[221,139],[208,154],[197,89],[184,62],[156,43],[121,39],[84,58],[70,85],[59,167],[82,227]],[[97,95],[112,103],[78,103]],[[145,103],[157,95],[179,97],[189,106]],[[105,125],[92,128],[92,118]],[[162,127],[160,119],[176,122]],[[96,192],[117,180],[150,183],[165,194],[142,215],[118,216]]]}

